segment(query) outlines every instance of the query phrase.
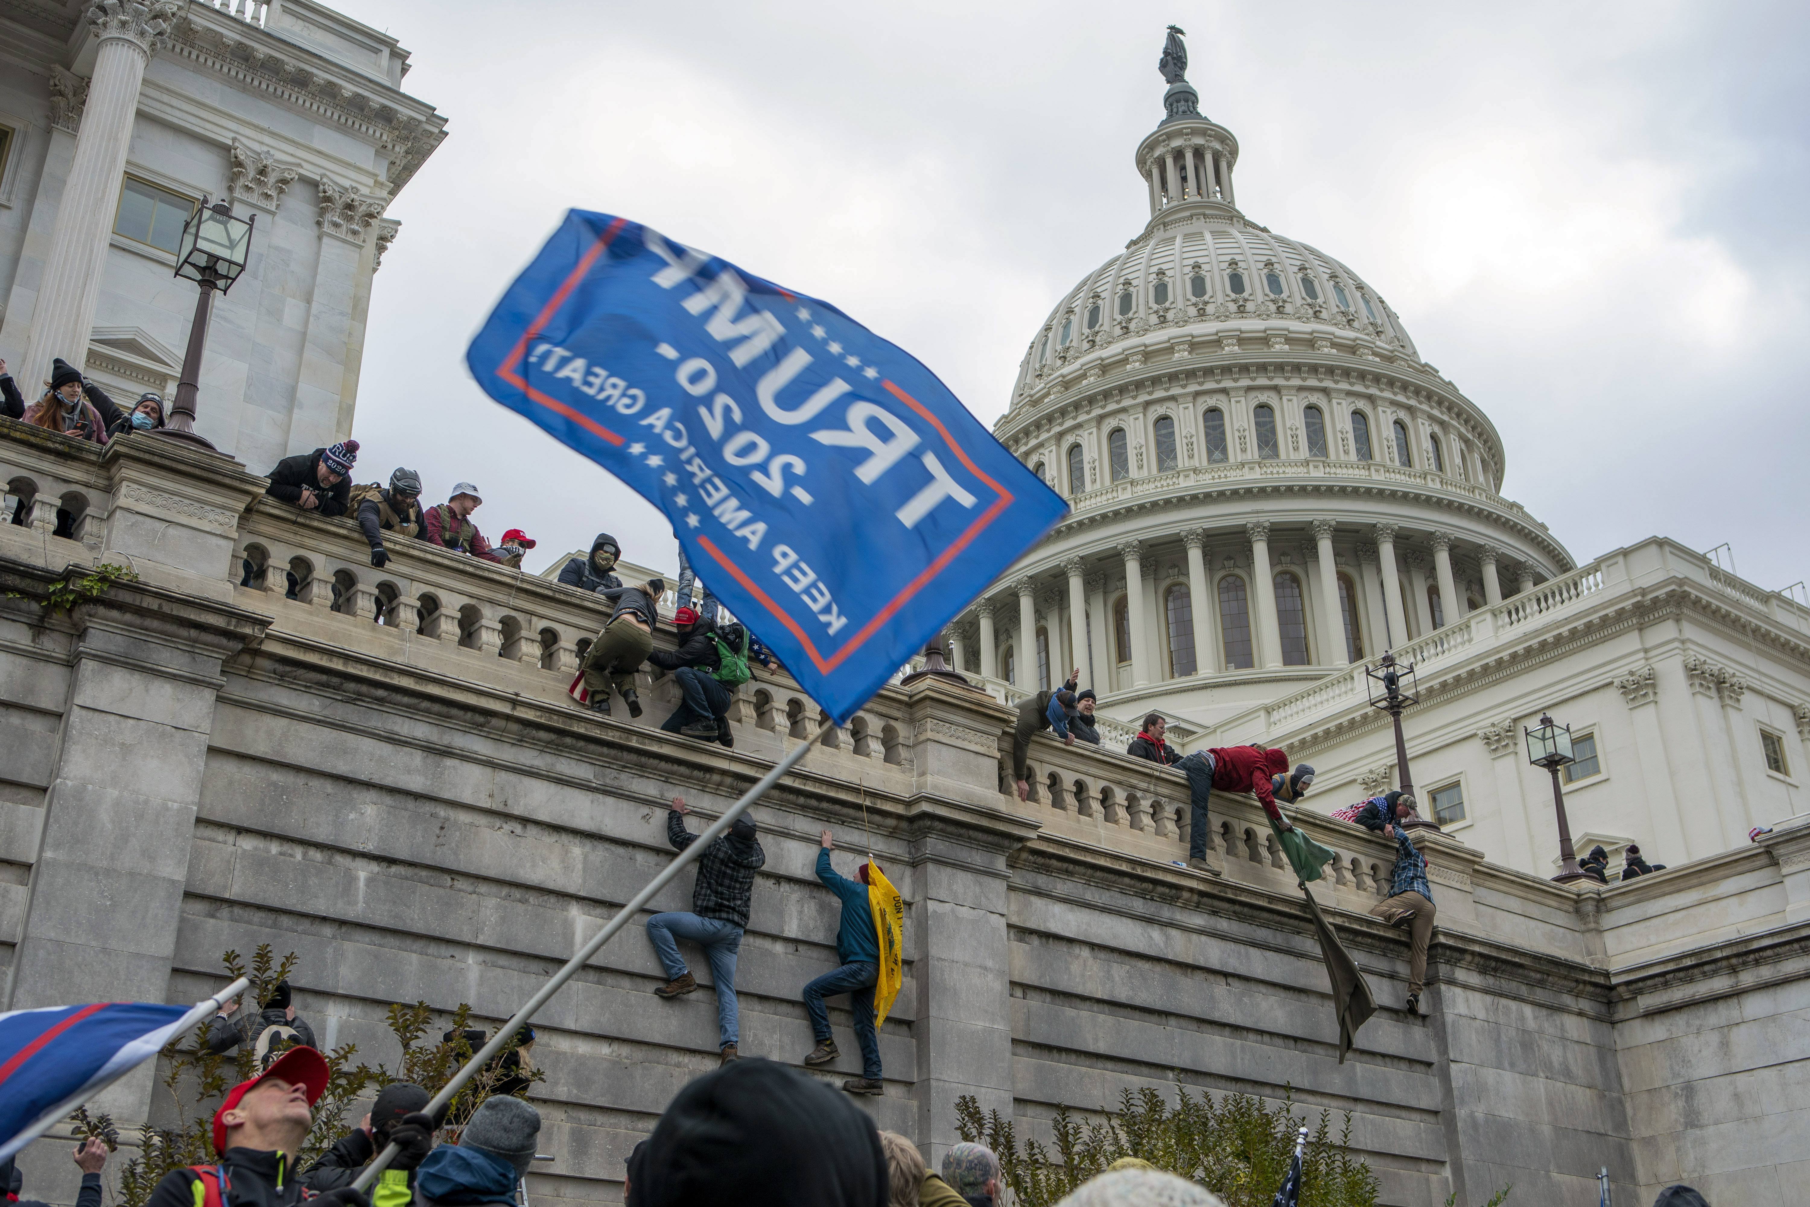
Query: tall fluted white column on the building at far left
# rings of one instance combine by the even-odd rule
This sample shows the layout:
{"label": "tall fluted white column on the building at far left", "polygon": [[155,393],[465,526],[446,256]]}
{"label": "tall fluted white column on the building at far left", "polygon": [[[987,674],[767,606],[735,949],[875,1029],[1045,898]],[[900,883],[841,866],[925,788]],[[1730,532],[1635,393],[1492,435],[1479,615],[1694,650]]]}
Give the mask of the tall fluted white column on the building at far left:
{"label": "tall fluted white column on the building at far left", "polygon": [[87,20],[100,42],[94,78],[89,80],[69,183],[56,208],[25,358],[14,367],[27,396],[51,376],[54,356],[78,369],[87,366],[138,90],[145,81],[145,63],[181,11],[176,0],[101,0],[89,7]]}

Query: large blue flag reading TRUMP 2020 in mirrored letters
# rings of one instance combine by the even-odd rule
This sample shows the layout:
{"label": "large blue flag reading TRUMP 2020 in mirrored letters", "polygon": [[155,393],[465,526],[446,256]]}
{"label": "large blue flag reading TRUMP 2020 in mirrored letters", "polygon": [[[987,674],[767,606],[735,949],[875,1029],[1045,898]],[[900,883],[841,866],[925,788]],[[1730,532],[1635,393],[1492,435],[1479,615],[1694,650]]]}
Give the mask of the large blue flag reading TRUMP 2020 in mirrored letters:
{"label": "large blue flag reading TRUMP 2020 in mirrored letters", "polygon": [[909,353],[624,217],[570,210],[467,364],[666,512],[836,724],[1068,510]]}

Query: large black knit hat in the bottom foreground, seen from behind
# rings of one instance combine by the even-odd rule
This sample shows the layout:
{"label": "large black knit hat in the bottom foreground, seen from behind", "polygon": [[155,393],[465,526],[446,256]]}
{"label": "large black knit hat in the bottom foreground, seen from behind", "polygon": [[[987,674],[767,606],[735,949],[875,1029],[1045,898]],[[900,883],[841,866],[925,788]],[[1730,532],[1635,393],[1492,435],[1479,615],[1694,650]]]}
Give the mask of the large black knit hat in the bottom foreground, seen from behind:
{"label": "large black knit hat in the bottom foreground, seen from behind", "polygon": [[731,1060],[661,1115],[634,1207],[887,1207],[887,1158],[847,1095],[776,1060]]}

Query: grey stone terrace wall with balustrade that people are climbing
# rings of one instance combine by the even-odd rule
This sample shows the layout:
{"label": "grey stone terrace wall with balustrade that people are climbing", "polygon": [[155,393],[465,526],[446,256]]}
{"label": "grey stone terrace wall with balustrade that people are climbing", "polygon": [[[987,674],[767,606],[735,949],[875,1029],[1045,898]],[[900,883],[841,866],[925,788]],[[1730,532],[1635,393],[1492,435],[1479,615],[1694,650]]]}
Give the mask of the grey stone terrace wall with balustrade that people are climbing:
{"label": "grey stone terrace wall with balustrade that people are climbing", "polygon": [[[713,816],[824,724],[766,675],[735,702],[733,753],[655,729],[670,680],[644,684],[639,722],[595,718],[565,697],[601,621],[577,592],[431,548],[376,575],[348,521],[262,501],[224,460],[0,429],[9,480],[89,508],[74,541],[40,523],[45,501],[0,525],[0,590],[22,595],[0,599],[11,1008],[194,1001],[221,952],[270,943],[299,954],[297,1006],[324,1044],[393,1062],[389,1003],[463,1001],[494,1026],[664,865],[670,796]],[[38,606],[101,559],[141,579]],[[887,1093],[862,1104],[932,1160],[961,1095],[1046,1138],[1059,1104],[1180,1080],[1350,1111],[1385,1203],[1481,1203],[1504,1182],[1520,1202],[1589,1202],[1604,1165],[1627,1202],[1672,1176],[1790,1202],[1810,832],[1613,889],[1421,832],[1441,928],[1428,1015],[1408,1017],[1406,939],[1367,916],[1394,847],[1301,818],[1339,851],[1314,892],[1383,1004],[1339,1064],[1307,914],[1254,805],[1215,798],[1224,876],[1187,872],[1176,773],[1037,738],[1019,802],[1001,791],[1008,726],[983,693],[885,688],[755,807],[744,1053],[811,1046],[798,990],[834,961],[836,903],[811,870],[829,827],[842,870],[872,849],[907,898]],[[657,907],[688,894],[684,876]],[[557,1160],[530,1196],[615,1202],[635,1138],[715,1066],[711,990],[662,1003],[659,981],[630,930],[536,1021]],[[840,1079],[858,1057],[847,1013],[833,1022]],[[161,1117],[150,1088],[145,1069],[101,1106]],[[27,1153],[31,1193],[72,1200],[65,1151]]]}

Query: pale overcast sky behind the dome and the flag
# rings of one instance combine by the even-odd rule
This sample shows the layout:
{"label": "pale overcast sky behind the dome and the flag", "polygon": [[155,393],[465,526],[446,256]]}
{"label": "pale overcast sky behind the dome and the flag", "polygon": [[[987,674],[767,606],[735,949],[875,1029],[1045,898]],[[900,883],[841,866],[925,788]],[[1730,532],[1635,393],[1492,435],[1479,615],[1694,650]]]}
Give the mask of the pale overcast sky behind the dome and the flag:
{"label": "pale overcast sky behind the dome and the flag", "polygon": [[986,423],[1055,300],[1148,217],[1164,25],[1238,201],[1345,261],[1495,422],[1582,563],[1647,536],[1810,577],[1810,7],[335,0],[449,138],[389,215],[362,470],[480,527],[675,565],[664,518],[489,402],[465,346],[570,206],[836,302]]}

